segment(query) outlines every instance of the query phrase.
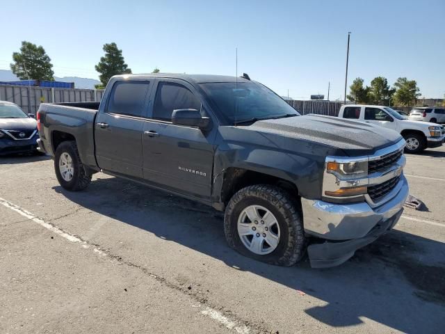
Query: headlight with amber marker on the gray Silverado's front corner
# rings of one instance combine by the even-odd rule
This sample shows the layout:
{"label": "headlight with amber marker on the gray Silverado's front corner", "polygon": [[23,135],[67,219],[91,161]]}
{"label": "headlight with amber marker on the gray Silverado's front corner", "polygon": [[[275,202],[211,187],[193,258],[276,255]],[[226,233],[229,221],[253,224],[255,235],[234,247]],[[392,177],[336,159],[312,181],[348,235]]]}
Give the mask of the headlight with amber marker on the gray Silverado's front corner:
{"label": "headlight with amber marker on the gray Silverado's front corner", "polygon": [[323,175],[323,197],[330,202],[358,202],[368,192],[368,158],[327,157]]}

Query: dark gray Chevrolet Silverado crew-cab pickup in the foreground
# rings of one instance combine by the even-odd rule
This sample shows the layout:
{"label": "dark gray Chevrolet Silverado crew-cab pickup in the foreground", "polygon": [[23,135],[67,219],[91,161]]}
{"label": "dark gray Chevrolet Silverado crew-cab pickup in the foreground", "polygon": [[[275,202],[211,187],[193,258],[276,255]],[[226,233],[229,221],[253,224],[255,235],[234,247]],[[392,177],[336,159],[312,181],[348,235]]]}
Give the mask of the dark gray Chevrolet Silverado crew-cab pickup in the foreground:
{"label": "dark gray Chevrolet Silverado crew-cab pickup in the foreground", "polygon": [[405,141],[354,120],[300,116],[248,75],[113,77],[99,103],[41,104],[58,182],[103,172],[225,211],[229,246],[256,260],[345,262],[403,211]]}

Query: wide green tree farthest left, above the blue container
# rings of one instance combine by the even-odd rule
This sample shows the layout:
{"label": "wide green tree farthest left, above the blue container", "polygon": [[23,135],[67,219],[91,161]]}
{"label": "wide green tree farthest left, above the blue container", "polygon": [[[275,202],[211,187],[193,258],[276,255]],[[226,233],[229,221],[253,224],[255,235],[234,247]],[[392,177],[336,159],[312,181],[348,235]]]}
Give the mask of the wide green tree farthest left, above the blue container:
{"label": "wide green tree farthest left, above the blue container", "polygon": [[13,53],[13,61],[10,68],[21,80],[54,80],[51,58],[41,45],[24,40],[20,51]]}

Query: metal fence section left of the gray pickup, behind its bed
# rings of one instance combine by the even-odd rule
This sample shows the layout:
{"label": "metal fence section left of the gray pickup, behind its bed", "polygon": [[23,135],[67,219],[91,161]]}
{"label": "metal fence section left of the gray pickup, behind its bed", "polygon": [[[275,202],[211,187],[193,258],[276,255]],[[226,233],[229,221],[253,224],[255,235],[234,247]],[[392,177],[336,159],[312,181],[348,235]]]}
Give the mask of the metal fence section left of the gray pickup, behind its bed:
{"label": "metal fence section left of the gray pickup, behind its bed", "polygon": [[0,84],[0,101],[17,104],[25,113],[37,113],[45,102],[99,102],[104,90],[65,89]]}

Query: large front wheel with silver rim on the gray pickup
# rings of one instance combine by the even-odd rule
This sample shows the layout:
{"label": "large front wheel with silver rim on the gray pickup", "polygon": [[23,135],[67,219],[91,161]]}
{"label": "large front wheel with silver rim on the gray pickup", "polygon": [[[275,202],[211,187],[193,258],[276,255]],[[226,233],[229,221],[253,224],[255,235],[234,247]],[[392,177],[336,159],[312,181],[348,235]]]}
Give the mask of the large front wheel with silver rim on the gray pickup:
{"label": "large front wheel with silver rim on the gray pickup", "polygon": [[224,217],[229,246],[255,260],[289,267],[305,252],[301,213],[286,191],[248,186],[229,201]]}

